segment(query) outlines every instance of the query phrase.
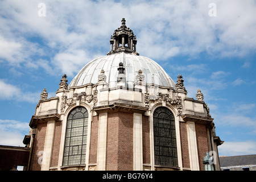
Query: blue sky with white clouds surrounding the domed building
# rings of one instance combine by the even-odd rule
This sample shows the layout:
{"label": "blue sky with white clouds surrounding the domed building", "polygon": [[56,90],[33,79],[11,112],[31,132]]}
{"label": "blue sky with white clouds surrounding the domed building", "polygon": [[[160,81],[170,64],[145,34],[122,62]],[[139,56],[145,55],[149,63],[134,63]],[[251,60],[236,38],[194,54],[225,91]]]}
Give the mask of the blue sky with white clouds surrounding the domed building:
{"label": "blue sky with white clouds surrounding the domed building", "polygon": [[2,0],[0,144],[24,146],[43,89],[55,96],[63,74],[71,82],[86,63],[106,55],[122,18],[141,56],[175,82],[181,74],[188,97],[201,89],[225,141],[220,155],[256,154],[254,0]]}

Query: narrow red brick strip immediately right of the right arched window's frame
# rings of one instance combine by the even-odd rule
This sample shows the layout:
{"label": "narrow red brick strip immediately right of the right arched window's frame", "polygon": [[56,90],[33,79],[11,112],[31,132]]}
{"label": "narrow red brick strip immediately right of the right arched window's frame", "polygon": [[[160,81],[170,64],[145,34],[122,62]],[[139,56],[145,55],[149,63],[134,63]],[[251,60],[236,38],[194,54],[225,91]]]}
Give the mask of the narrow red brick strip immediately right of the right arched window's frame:
{"label": "narrow red brick strip immediately right of the right arched window's frame", "polygon": [[180,122],[180,141],[181,141],[182,166],[184,168],[190,168],[189,150],[188,150],[188,134],[187,134],[186,122]]}

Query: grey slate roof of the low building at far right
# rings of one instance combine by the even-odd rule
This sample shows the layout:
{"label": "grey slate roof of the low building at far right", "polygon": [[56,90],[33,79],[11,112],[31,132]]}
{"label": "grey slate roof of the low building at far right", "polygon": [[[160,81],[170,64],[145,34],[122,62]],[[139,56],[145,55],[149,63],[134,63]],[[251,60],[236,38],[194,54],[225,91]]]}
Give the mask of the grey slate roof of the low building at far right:
{"label": "grey slate roof of the low building at far right", "polygon": [[221,167],[256,164],[256,155],[226,156],[220,158]]}

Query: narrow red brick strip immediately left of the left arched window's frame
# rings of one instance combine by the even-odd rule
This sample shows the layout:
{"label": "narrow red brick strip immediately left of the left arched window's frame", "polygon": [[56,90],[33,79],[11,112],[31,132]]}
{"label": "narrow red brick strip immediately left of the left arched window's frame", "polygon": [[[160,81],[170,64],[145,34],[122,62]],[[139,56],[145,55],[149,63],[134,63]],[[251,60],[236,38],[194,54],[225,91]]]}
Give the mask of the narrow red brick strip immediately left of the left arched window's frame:
{"label": "narrow red brick strip immediately left of the left arched window's frame", "polygon": [[58,166],[59,154],[60,154],[61,131],[62,131],[62,122],[60,122],[60,121],[56,122],[55,134],[54,134],[54,139],[53,139],[51,167]]}

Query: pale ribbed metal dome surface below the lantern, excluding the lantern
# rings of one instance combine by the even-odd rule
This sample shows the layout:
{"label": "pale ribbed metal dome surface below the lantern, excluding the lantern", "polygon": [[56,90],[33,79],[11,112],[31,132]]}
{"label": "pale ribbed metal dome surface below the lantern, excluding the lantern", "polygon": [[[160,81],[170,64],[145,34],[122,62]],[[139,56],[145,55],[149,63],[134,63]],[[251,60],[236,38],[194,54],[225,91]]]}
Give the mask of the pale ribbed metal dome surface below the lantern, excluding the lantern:
{"label": "pale ribbed metal dome surface below the lantern, excluding the lantern", "polygon": [[[144,75],[144,84],[146,85],[154,84],[175,88],[175,83],[172,78],[155,61],[147,57],[126,52],[114,53],[90,61],[81,69],[75,78],[73,78],[69,84],[69,88],[90,83],[97,84],[98,76],[103,71],[106,76],[105,82],[109,85],[109,88],[115,88],[118,86],[117,77],[119,74],[119,63],[123,63],[126,86],[128,88],[133,88],[139,73]],[[138,71],[142,72],[138,73]]]}

